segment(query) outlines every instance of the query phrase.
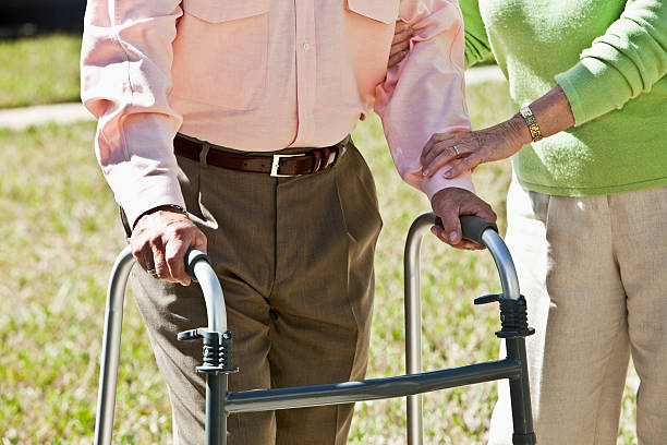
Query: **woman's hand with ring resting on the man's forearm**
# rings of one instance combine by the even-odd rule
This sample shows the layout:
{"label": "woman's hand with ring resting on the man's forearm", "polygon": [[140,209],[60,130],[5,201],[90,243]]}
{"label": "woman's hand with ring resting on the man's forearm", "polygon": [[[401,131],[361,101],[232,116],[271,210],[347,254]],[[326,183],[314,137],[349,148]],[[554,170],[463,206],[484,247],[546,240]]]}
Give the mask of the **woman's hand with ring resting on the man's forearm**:
{"label": "woman's hand with ring resting on the man's forearm", "polygon": [[441,167],[451,165],[444,176],[456,178],[480,164],[510,157],[530,142],[530,132],[521,115],[484,130],[436,133],[422,151],[422,173],[429,178]]}

